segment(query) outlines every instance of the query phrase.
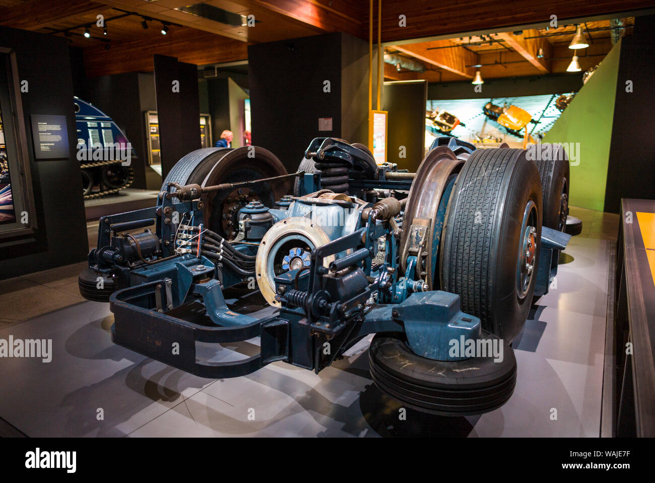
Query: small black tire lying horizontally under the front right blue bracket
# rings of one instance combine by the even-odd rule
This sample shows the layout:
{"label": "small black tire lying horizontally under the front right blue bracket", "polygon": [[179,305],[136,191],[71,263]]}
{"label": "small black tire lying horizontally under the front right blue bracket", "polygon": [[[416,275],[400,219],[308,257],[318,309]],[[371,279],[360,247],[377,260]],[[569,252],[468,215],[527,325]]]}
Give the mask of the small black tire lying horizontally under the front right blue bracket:
{"label": "small black tire lying horizontally under the front right blue bracket", "polygon": [[[483,339],[497,339],[489,332]],[[504,404],[516,385],[516,358],[503,343],[502,362],[492,357],[440,361],[413,353],[402,339],[377,334],[369,347],[375,385],[403,405],[430,414],[483,414]]]}

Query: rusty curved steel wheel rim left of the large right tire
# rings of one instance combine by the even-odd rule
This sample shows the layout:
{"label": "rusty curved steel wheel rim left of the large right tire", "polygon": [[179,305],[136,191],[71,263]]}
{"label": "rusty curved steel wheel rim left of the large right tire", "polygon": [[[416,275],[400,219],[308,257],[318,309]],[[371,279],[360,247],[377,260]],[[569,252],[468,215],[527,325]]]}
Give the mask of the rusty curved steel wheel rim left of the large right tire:
{"label": "rusty curved steel wheel rim left of the large right tire", "polygon": [[[407,269],[407,257],[419,255],[419,250],[417,250],[419,247],[412,248],[411,243],[412,225],[415,225],[415,231],[424,238],[424,244],[421,243],[420,255],[425,258],[425,260],[419,260],[417,267],[425,272],[425,280],[430,290],[434,290],[435,274],[432,273],[431,257],[437,248],[432,246],[437,211],[448,178],[460,172],[463,165],[464,161],[457,159],[448,147],[439,146],[432,149],[421,162],[407,197],[403,214],[403,230],[400,236],[400,267],[404,272]],[[436,227],[436,229],[441,231],[441,227]]]}

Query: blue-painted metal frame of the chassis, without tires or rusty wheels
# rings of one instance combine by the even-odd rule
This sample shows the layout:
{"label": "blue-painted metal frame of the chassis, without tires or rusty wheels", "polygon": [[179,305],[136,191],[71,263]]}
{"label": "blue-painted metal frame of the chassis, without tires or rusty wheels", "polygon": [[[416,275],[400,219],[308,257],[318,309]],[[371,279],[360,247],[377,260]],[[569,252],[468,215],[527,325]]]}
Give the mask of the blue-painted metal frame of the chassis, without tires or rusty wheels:
{"label": "blue-painted metal frame of the chassis, without tires or rusty wheels", "polygon": [[[341,146],[328,147],[337,149],[343,159],[347,160],[350,155]],[[379,178],[378,181],[350,180],[350,185],[402,186],[404,189],[411,185],[409,181],[385,180],[384,170]],[[454,181],[449,180],[438,208],[433,233],[436,241]],[[320,174],[305,174],[301,178],[301,196],[318,189]],[[462,357],[449,354],[449,342],[481,336],[480,320],[460,310],[456,294],[424,291],[426,284],[415,274],[416,257],[409,257],[405,273],[398,272],[398,240],[391,221],[369,216],[367,222],[362,222],[362,211],[372,208],[371,203],[358,206],[357,221],[347,228],[343,225],[326,227],[331,241],[313,248],[309,267],[287,271],[275,278],[276,299],[281,303],[277,315],[254,319],[236,313],[227,306],[223,288],[241,282],[242,275],[227,266],[219,267],[199,253],[172,256],[175,239],[174,223],[170,220],[172,213],[189,213],[190,223],[196,225],[202,220],[202,202],[172,203],[172,199],[172,195],[164,191],[154,208],[103,217],[100,222],[96,250],[109,245],[112,225],[141,226],[140,222],[153,218],[157,220],[157,236],[162,241],[162,260],[124,269],[126,288],[111,295],[111,311],[115,314],[113,340],[119,345],[198,376],[222,378],[242,376],[277,360],[318,372],[355,341],[378,332],[405,334],[411,350],[421,357],[462,360]],[[288,209],[271,208],[269,212],[278,222],[290,216],[307,216],[309,212],[331,216],[334,211],[355,206],[354,203],[320,203],[316,199],[308,202],[296,198]],[[372,261],[382,238],[386,256],[381,265],[374,267]],[[542,228],[537,295],[548,292],[553,275],[550,271],[552,254],[554,250],[565,248],[570,238]],[[233,246],[247,254],[257,252],[257,244],[234,242]],[[326,267],[324,260],[329,256],[335,258]],[[436,260],[436,251],[432,258]],[[92,268],[110,270],[98,265]],[[436,273],[436,267],[433,269]],[[375,303],[371,305],[371,301]],[[206,312],[202,323],[173,317],[180,307],[191,302],[204,305]],[[196,360],[196,342],[226,343],[255,336],[261,338],[258,355],[236,362]],[[329,351],[325,350],[326,344]],[[177,351],[172,350],[174,345]]]}

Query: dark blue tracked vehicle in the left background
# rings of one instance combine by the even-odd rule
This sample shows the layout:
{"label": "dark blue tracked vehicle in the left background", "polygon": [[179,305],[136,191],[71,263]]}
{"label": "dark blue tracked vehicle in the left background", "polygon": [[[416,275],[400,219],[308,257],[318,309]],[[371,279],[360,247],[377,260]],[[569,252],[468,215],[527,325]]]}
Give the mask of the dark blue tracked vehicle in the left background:
{"label": "dark blue tracked vehicle in the left background", "polygon": [[74,104],[84,199],[115,195],[132,184],[134,170],[128,162],[136,154],[111,117],[80,98]]}

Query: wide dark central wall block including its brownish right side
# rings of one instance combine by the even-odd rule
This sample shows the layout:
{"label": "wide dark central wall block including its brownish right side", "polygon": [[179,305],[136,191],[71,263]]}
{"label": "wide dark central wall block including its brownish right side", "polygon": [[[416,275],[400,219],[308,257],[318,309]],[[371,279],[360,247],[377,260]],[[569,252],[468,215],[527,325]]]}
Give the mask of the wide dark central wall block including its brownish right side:
{"label": "wide dark central wall block including its brownish right side", "polygon": [[[313,138],[368,144],[365,41],[326,33],[250,45],[248,84],[252,143],[274,153],[289,172]],[[319,119],[329,119],[324,130]]]}

